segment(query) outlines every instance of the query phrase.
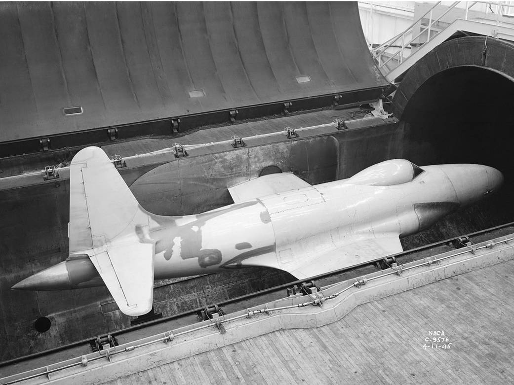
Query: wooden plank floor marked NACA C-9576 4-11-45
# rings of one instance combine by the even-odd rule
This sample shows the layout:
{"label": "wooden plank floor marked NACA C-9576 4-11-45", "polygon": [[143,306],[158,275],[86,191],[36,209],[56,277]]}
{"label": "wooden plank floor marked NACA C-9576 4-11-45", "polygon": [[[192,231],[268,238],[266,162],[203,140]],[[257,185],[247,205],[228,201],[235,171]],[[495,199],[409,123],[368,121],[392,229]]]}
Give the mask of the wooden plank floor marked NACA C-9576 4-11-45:
{"label": "wooden plank floor marked NACA C-9576 4-11-45", "polygon": [[512,319],[509,261],[107,383],[514,383]]}

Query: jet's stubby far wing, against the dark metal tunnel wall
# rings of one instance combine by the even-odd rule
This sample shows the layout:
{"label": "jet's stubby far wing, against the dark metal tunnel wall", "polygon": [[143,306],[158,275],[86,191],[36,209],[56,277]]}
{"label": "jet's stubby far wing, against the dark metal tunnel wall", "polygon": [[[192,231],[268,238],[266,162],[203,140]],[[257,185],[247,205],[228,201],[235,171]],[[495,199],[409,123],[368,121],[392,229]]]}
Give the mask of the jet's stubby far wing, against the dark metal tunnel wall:
{"label": "jet's stubby far wing, against the dark metal tunnel wall", "polygon": [[228,190],[234,203],[238,203],[303,187],[310,187],[310,184],[290,172],[282,172],[252,179],[230,187]]}

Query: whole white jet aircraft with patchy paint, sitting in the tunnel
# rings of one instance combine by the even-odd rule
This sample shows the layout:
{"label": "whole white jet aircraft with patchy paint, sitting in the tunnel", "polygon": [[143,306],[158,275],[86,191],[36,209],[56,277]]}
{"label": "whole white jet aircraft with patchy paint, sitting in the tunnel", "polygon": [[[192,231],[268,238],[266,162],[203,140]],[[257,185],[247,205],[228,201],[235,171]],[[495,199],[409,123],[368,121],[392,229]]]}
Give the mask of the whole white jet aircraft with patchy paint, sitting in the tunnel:
{"label": "whole white jet aircraft with patchy paint, sitting in the tunnel", "polygon": [[198,215],[149,213],[98,147],[70,166],[69,257],[13,286],[62,290],[105,283],[130,316],[152,309],[154,279],[266,266],[303,279],[402,252],[419,232],[500,187],[495,168],[418,167],[395,159],[311,186],[271,174],[229,188],[234,204]]}

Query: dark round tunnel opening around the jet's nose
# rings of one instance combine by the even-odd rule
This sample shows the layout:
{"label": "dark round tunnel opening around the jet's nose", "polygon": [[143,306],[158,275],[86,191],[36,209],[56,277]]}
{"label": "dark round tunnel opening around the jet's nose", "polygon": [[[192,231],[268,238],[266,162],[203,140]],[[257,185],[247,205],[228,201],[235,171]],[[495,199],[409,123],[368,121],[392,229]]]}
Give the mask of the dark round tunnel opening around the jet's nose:
{"label": "dark round tunnel opening around the jet's nose", "polygon": [[401,121],[404,155],[413,163],[484,164],[498,168],[505,177],[493,198],[449,218],[446,225],[453,227],[453,234],[514,221],[511,78],[476,66],[438,72],[414,92]]}

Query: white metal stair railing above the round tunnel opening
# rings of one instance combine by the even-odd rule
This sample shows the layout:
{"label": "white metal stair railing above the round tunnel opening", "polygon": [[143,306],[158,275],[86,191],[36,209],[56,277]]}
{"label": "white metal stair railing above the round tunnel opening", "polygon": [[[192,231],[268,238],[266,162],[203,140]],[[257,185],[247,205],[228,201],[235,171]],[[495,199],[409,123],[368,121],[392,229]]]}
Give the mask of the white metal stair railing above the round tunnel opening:
{"label": "white metal stair railing above the round tunnel opening", "polygon": [[[431,8],[429,8],[423,15],[418,17],[407,29],[403,32],[400,32],[396,36],[391,37],[388,41],[380,44],[379,46],[373,48],[371,50],[373,56],[375,57],[378,68],[382,70],[382,72],[391,72],[400,64],[403,63],[409,57],[410,50],[413,47],[421,47],[429,41],[433,40],[435,36],[437,36],[444,29],[439,29],[439,23],[442,22],[442,19],[453,9],[457,8],[457,5],[464,4],[464,18],[465,20],[469,20],[469,10],[475,6],[476,4],[486,4],[488,9],[491,10],[491,13],[495,15],[494,20],[491,18],[487,19],[487,23],[493,23],[495,25],[500,25],[502,23],[502,16],[505,16],[505,10],[514,8],[514,5],[507,4],[505,2],[454,2],[448,7],[444,7],[441,5],[441,2],[435,3]],[[494,7],[494,9],[492,8]],[[436,12],[440,11],[440,14],[435,16]],[[419,23],[423,20],[428,19],[426,25],[421,25],[421,28],[418,33],[415,33],[415,28]],[[446,22],[448,23],[448,22]],[[448,23],[450,24],[450,23]],[[423,34],[426,33],[426,41],[424,42],[416,42],[416,40]],[[415,43],[416,42],[416,43]],[[397,48],[394,50],[394,48]],[[408,53],[408,54],[407,54]]]}

